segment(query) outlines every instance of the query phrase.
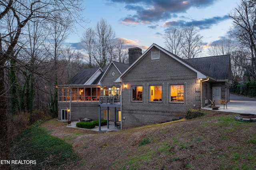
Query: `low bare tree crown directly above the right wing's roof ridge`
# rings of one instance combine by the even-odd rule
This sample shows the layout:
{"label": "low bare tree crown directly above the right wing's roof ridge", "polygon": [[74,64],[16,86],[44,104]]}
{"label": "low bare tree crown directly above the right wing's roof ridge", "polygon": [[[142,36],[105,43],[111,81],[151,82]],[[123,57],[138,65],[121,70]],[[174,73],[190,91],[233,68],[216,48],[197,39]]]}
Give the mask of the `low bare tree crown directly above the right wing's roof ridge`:
{"label": "low bare tree crown directly above the right wing's roof ridge", "polygon": [[231,39],[220,39],[220,41],[216,41],[214,43],[210,43],[208,47],[208,54],[212,56],[217,55],[228,55],[235,49],[234,43],[232,43]]}

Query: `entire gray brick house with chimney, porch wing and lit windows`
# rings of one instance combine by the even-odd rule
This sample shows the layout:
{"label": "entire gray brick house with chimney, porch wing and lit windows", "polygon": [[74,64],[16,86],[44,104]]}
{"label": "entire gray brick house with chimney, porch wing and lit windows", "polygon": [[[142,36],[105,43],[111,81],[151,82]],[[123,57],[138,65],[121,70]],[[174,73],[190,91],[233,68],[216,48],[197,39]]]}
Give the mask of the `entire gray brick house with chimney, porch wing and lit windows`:
{"label": "entire gray brick house with chimney, porch wing and lit windows", "polygon": [[230,57],[184,60],[152,44],[143,54],[129,49],[129,64],[81,70],[68,84],[59,88],[59,120],[100,117],[126,129],[180,119],[209,99],[229,100]]}

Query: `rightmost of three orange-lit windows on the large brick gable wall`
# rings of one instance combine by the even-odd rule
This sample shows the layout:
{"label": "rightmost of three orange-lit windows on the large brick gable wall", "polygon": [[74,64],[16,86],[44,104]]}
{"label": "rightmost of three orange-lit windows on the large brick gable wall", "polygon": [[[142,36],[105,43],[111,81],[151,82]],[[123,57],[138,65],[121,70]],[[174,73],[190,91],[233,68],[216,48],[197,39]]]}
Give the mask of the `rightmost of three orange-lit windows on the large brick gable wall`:
{"label": "rightmost of three orange-lit windows on the large brick gable wall", "polygon": [[170,86],[170,102],[184,102],[184,85]]}

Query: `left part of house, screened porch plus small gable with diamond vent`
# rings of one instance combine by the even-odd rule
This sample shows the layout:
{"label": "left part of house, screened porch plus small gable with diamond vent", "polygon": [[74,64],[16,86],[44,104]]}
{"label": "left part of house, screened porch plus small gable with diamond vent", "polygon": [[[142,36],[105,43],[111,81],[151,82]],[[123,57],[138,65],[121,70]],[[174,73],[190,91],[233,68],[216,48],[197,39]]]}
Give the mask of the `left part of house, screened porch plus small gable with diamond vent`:
{"label": "left part of house, screened porch plus small gable with diamond vent", "polygon": [[[120,98],[120,83],[115,80],[126,68],[128,64],[112,61],[104,68],[83,69],[70,82],[58,86],[58,120],[98,119],[100,96]],[[107,119],[107,107],[101,109],[101,117]],[[120,106],[108,110],[110,121],[121,119]]]}

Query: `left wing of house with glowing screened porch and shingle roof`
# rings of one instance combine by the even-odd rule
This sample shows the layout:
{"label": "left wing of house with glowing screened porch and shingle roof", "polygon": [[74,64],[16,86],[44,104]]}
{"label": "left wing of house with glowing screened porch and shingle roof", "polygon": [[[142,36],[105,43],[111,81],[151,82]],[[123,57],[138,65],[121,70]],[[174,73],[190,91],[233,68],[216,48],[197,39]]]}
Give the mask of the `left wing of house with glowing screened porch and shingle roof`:
{"label": "left wing of house with glowing screened porch and shingle roof", "polygon": [[82,69],[67,84],[58,86],[58,120],[98,119],[100,78],[104,70]]}

